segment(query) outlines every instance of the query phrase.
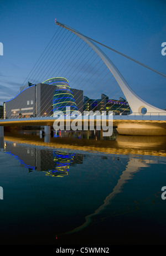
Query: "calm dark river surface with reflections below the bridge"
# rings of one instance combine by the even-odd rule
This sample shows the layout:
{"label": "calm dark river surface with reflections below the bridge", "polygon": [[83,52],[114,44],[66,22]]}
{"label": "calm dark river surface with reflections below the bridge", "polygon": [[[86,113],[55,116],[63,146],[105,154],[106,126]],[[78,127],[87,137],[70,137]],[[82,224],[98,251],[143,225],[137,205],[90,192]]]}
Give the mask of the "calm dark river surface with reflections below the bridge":
{"label": "calm dark river surface with reflections below the bridge", "polygon": [[165,142],[6,131],[0,244],[165,244]]}

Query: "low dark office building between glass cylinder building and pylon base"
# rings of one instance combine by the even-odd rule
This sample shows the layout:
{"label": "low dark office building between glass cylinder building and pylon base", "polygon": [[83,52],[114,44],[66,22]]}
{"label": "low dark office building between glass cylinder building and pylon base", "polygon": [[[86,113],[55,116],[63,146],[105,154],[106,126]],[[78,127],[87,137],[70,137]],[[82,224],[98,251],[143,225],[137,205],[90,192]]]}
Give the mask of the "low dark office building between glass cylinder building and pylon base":
{"label": "low dark office building between glass cylinder building and pylon base", "polygon": [[113,111],[116,115],[120,113],[125,115],[130,113],[130,107],[123,98],[109,99],[107,95],[101,94],[101,99],[96,100],[84,96],[84,111]]}

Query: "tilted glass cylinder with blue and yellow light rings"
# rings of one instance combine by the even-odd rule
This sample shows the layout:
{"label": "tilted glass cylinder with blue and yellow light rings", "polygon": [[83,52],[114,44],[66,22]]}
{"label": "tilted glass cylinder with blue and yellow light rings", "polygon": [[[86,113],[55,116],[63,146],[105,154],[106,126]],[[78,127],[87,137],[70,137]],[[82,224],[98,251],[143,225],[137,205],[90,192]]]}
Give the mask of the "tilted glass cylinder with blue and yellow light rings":
{"label": "tilted glass cylinder with blue and yellow light rings", "polygon": [[70,107],[70,111],[77,111],[74,96],[70,90],[70,85],[65,78],[51,78],[43,82],[43,84],[49,84],[55,86],[53,97],[53,115],[58,114],[58,111],[62,111],[66,115],[66,107]]}

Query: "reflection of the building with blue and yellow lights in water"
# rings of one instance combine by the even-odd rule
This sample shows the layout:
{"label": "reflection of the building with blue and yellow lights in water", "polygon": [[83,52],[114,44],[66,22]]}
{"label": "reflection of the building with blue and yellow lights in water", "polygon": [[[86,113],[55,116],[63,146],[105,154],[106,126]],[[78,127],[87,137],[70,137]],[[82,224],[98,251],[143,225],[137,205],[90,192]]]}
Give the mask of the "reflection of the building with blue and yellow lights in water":
{"label": "reflection of the building with blue and yellow lights in water", "polygon": [[12,155],[20,162],[20,167],[28,168],[29,172],[43,171],[47,176],[53,177],[66,176],[71,165],[83,163],[83,156],[79,153],[15,144],[9,141],[5,142],[2,152]]}

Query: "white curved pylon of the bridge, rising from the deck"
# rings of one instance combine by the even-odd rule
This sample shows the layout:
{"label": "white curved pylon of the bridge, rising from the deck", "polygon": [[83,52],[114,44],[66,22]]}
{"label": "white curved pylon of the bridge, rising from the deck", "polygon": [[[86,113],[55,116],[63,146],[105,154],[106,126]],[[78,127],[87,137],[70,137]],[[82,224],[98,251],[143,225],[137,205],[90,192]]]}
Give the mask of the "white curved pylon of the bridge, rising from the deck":
{"label": "white curved pylon of the bridge, rising from the deck", "polygon": [[56,21],[55,23],[60,27],[66,28],[84,40],[87,44],[90,45],[92,49],[98,54],[98,56],[103,60],[103,62],[107,65],[108,69],[110,69],[111,73],[115,77],[118,85],[120,85],[123,94],[125,95],[129,106],[131,107],[132,114],[142,115],[141,110],[143,107],[147,109],[146,115],[166,115],[166,111],[162,109],[158,109],[158,107],[152,106],[151,104],[147,103],[146,101],[139,98],[139,96],[134,93],[134,91],[129,87],[126,80],[123,78],[120,71],[116,68],[116,66],[111,62],[111,60],[106,56],[105,53],[102,52],[100,48],[97,47],[90,39],[86,38],[84,35],[77,32],[75,29],[68,27],[67,25],[61,24]]}

